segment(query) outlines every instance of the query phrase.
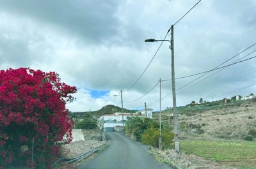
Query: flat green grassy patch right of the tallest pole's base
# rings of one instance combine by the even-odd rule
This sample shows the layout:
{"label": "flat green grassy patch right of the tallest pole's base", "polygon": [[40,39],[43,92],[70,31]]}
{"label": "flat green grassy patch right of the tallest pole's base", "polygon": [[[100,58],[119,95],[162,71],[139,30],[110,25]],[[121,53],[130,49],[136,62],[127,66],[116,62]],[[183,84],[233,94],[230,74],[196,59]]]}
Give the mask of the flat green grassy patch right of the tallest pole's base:
{"label": "flat green grassy patch right of the tallest pole's base", "polygon": [[180,140],[181,151],[214,161],[250,161],[256,159],[256,143],[235,140]]}

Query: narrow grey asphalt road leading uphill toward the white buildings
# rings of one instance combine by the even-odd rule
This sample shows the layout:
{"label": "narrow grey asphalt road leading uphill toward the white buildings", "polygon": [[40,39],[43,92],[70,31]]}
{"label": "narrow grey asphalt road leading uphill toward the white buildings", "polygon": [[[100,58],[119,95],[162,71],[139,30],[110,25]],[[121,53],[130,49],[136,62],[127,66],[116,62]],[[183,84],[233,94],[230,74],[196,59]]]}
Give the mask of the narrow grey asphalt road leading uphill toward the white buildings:
{"label": "narrow grey asphalt road leading uphill toward the white buildings", "polygon": [[142,145],[122,133],[105,133],[108,147],[94,158],[79,165],[77,169],[170,169],[159,165],[153,156],[148,154],[149,146]]}

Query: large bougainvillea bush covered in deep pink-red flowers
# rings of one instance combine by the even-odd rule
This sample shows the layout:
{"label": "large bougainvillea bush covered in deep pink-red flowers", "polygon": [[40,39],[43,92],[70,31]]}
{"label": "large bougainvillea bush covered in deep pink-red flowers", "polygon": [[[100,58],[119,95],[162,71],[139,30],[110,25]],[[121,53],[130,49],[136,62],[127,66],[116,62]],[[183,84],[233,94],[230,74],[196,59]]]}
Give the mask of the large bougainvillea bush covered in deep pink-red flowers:
{"label": "large bougainvillea bush covered in deep pink-red flowers", "polygon": [[72,140],[73,122],[65,104],[76,91],[54,72],[0,71],[0,168],[15,163],[52,168],[60,144]]}

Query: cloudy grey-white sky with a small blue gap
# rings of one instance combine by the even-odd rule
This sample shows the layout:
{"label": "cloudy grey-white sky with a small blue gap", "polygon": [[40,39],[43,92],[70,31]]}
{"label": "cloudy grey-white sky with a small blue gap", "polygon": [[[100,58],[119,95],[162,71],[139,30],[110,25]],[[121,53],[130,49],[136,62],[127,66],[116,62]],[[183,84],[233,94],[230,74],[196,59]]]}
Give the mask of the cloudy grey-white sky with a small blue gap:
{"label": "cloudy grey-white sky with a small blue gap", "polygon": [[[121,107],[120,90],[124,108],[159,110],[161,78],[164,110],[173,106],[170,43],[144,41],[170,40],[168,29],[197,2],[0,0],[0,70],[56,71],[78,88],[72,112]],[[255,9],[256,0],[200,1],[174,26],[175,78],[255,57]],[[256,94],[255,58],[220,70],[176,79],[177,106]]]}

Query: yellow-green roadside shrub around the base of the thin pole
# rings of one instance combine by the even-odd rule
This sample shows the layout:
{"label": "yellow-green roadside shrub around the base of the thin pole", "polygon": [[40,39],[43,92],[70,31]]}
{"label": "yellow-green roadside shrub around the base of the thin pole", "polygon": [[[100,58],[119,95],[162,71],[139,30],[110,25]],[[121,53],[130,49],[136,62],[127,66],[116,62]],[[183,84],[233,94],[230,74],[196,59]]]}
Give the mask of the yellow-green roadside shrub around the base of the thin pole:
{"label": "yellow-green roadside shrub around the base of the thin pole", "polygon": [[[170,132],[170,129],[162,129],[162,148],[169,149],[172,147],[174,134]],[[153,126],[146,129],[144,133],[141,134],[141,142],[147,145],[152,145],[153,147],[159,148],[159,129]]]}

